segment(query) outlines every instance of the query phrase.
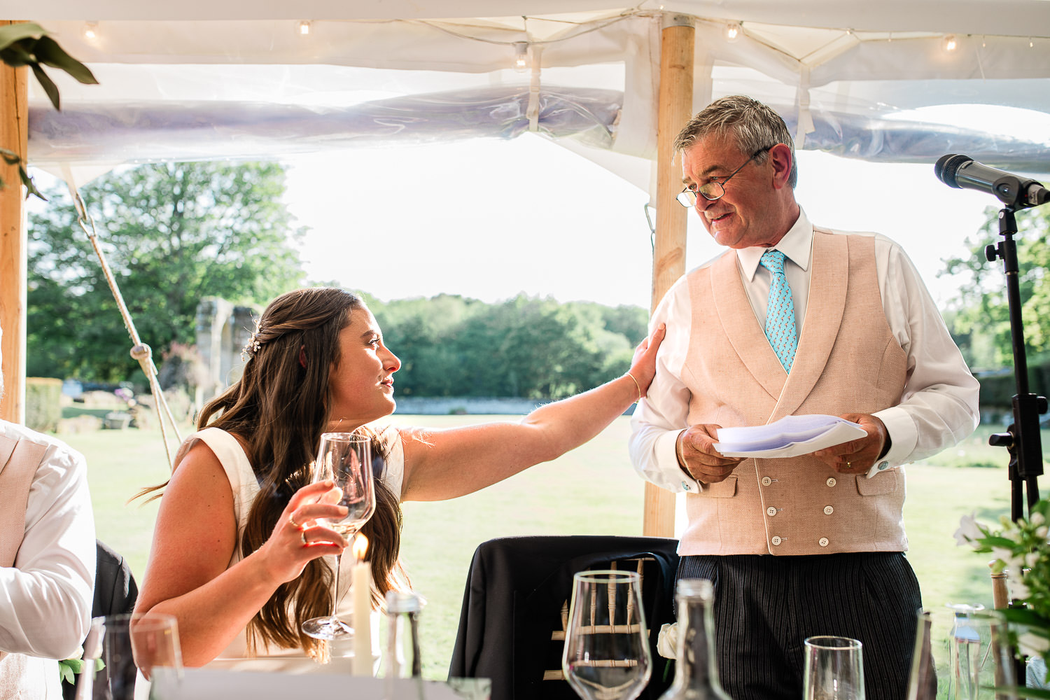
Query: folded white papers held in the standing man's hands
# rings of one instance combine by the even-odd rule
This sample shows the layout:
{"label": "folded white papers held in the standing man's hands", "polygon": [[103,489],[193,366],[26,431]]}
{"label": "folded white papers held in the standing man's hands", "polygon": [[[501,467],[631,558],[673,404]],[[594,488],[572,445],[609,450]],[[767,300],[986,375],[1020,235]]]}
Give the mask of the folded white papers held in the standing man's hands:
{"label": "folded white papers held in the standing man's hands", "polygon": [[715,449],[722,457],[798,457],[857,440],[867,434],[861,426],[837,416],[788,416],[775,423],[718,428]]}

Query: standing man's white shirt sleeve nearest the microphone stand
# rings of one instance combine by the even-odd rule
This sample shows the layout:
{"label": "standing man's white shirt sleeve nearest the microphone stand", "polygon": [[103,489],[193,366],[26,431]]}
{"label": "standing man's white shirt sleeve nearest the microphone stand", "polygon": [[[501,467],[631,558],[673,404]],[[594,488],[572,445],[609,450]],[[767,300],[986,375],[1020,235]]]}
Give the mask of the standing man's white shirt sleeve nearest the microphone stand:
{"label": "standing man's white shirt sleeve nearest the microphone stand", "polygon": [[877,236],[876,259],[886,321],[907,354],[901,402],[875,413],[891,442],[878,468],[936,454],[973,432],[980,421],[980,384],[900,246]]}

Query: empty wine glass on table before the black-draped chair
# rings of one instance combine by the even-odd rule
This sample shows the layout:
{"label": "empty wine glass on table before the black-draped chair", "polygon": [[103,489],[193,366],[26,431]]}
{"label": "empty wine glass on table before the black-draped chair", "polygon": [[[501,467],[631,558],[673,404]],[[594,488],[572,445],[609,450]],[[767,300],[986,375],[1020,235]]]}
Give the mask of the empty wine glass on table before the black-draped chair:
{"label": "empty wine glass on table before the black-draped chair", "polygon": [[634,700],[652,674],[642,578],[630,571],[572,577],[562,671],[585,700]]}

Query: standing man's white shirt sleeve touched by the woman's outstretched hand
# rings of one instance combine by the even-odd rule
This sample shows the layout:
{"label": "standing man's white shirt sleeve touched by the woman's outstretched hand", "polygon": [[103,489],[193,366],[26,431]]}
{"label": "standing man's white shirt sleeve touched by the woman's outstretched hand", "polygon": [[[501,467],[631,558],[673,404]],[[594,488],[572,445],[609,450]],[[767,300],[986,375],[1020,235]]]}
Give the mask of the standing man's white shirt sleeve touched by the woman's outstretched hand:
{"label": "standing man's white shirt sleeve touched by the woman's outstretched hand", "polygon": [[681,369],[692,333],[692,304],[689,285],[680,278],[653,312],[650,332],[667,324],[667,336],[656,354],[656,377],[631,417],[628,444],[631,463],[646,481],[669,491],[701,490],[700,485],[678,466],[675,441],[689,427],[690,391],[681,381]]}

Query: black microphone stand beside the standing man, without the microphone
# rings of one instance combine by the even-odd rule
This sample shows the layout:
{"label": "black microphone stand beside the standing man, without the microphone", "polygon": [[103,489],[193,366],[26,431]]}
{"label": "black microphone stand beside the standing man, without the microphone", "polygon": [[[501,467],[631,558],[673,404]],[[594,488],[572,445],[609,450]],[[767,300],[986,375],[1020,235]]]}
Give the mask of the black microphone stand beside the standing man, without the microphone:
{"label": "black microphone stand beside the standing man, without the microphone", "polygon": [[[1006,273],[1006,295],[1010,311],[1010,342],[1013,349],[1013,376],[1017,393],[1013,395],[1013,423],[1006,432],[996,432],[988,438],[989,445],[1006,447],[1010,453],[1010,517],[1017,522],[1025,515],[1025,489],[1027,487],[1028,512],[1040,500],[1036,478],[1043,474],[1043,447],[1040,439],[1040,416],[1047,410],[1045,397],[1028,390],[1028,361],[1025,355],[1025,327],[1021,317],[1021,291],[1017,282],[1017,245],[1013,234],[1017,232],[1017,221],[1013,207],[1007,205],[999,212],[999,232],[1003,239],[998,246],[985,248],[989,262],[1003,260]],[[1010,608],[1024,608],[1024,603],[1011,600]],[[1014,649],[1014,682],[1018,687],[1027,684],[1026,658]]]}

